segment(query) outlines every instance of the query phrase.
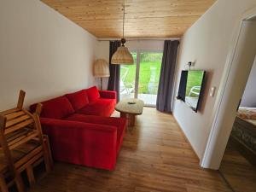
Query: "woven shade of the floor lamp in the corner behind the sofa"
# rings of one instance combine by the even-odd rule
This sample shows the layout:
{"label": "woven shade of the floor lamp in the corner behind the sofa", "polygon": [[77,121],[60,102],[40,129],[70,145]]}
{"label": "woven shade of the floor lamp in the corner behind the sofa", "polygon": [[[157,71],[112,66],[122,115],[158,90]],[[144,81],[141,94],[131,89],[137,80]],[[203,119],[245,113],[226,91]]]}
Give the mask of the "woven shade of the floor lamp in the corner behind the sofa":
{"label": "woven shade of the floor lamp in the corner behind the sofa", "polygon": [[93,65],[93,75],[96,78],[108,78],[110,76],[108,62],[103,59],[96,60]]}

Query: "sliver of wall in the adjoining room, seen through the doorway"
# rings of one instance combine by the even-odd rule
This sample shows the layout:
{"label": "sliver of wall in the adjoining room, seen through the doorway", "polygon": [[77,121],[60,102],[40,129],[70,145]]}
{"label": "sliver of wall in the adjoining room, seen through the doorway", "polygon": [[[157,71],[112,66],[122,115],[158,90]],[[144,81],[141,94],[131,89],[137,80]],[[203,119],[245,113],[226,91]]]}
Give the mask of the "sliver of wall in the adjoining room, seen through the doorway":
{"label": "sliver of wall in the adjoining room, seen through the doorway", "polygon": [[256,108],[256,58],[247,81],[246,89],[241,97],[241,107]]}

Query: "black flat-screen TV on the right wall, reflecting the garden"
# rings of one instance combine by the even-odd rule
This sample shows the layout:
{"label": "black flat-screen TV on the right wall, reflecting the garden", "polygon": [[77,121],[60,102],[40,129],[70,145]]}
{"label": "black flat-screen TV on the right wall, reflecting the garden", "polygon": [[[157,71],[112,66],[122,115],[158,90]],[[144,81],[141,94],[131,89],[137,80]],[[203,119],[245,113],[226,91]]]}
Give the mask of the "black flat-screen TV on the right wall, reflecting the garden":
{"label": "black flat-screen TV on the right wall, reflecting the garden", "polygon": [[206,72],[202,70],[182,71],[177,99],[182,100],[197,112],[205,84]]}

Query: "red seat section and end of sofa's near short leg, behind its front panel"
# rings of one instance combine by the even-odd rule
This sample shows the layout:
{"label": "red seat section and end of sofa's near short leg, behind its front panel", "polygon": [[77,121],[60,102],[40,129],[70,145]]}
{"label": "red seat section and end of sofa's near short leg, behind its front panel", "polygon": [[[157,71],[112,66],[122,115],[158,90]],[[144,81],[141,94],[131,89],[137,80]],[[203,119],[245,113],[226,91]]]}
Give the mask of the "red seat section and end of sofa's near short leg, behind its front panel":
{"label": "red seat section and end of sofa's near short leg, behind its front panel", "polygon": [[99,117],[96,115],[84,115],[79,113],[74,113],[66,118],[70,121],[79,121],[96,125],[110,125],[117,127],[117,151],[119,151],[121,147],[121,143],[123,142],[123,137],[125,134],[126,128],[126,119],[124,118],[114,118],[114,117]]}

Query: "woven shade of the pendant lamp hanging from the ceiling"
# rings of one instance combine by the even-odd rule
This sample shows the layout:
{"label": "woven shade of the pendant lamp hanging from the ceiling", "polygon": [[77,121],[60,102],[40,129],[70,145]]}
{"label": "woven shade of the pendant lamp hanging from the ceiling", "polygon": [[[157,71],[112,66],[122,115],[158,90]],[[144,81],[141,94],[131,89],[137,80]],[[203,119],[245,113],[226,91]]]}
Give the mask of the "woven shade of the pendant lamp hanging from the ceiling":
{"label": "woven shade of the pendant lamp hanging from the ceiling", "polygon": [[125,46],[120,46],[112,55],[111,64],[133,64],[133,57]]}

